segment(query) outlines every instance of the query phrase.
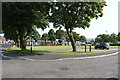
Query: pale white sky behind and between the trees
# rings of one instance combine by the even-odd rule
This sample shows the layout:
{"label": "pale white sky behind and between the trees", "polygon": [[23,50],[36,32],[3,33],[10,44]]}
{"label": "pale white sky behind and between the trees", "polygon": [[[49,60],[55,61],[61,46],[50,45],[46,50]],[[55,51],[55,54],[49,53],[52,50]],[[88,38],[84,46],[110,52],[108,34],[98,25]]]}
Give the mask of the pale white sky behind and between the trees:
{"label": "pale white sky behind and between the trees", "polygon": [[[86,38],[96,38],[99,34],[112,34],[118,33],[118,2],[120,0],[105,0],[107,6],[103,8],[103,17],[98,19],[92,19],[90,22],[90,27],[85,30],[82,28],[76,28],[74,31],[80,35],[84,35]],[[52,23],[50,28],[42,31],[37,29],[42,35],[47,33],[50,29],[54,29]],[[56,29],[54,29],[56,31]]]}

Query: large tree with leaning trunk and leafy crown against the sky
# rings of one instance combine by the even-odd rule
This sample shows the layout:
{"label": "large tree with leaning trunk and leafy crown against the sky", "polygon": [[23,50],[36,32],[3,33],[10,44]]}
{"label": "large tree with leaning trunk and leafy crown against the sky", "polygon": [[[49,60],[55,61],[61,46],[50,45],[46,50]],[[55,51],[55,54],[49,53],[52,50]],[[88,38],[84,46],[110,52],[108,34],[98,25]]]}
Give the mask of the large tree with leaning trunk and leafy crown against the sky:
{"label": "large tree with leaning trunk and leafy crown against the sky", "polygon": [[51,22],[55,28],[66,29],[73,51],[76,51],[73,29],[89,27],[91,19],[102,17],[105,5],[105,2],[54,2],[51,3]]}

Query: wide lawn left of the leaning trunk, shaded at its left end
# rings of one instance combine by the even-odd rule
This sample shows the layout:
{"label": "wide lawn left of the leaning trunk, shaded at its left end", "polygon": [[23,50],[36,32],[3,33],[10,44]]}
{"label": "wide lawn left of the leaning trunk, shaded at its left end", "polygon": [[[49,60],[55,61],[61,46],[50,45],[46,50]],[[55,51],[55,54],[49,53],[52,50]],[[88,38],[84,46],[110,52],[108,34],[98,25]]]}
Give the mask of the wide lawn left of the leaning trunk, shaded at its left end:
{"label": "wide lawn left of the leaning trunk, shaded at its left end", "polygon": [[33,46],[32,53],[30,52],[30,46],[27,46],[27,50],[20,50],[20,48],[13,46],[4,52],[6,55],[31,55],[36,53],[51,52],[62,49],[71,49],[71,46]]}

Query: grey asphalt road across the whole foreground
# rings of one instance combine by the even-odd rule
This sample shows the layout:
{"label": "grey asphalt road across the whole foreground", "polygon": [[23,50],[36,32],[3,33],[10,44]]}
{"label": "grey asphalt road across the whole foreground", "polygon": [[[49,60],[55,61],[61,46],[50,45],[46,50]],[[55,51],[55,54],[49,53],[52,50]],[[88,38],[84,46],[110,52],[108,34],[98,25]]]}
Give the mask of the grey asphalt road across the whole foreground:
{"label": "grey asphalt road across the whole foreground", "polygon": [[78,60],[2,60],[3,78],[118,77],[118,55]]}

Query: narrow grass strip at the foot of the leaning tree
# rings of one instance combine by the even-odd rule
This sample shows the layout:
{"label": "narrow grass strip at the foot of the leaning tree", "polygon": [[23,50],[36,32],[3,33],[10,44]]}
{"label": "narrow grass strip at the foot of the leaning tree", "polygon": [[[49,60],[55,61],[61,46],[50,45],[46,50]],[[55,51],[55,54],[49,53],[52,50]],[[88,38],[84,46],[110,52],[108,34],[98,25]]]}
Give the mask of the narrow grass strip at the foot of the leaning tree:
{"label": "narrow grass strip at the foot of the leaning tree", "polygon": [[108,50],[92,50],[89,52],[88,50],[85,52],[84,49],[77,50],[77,52],[72,52],[72,51],[66,51],[66,52],[58,52],[57,54],[62,54],[62,55],[78,55],[78,54],[89,54],[89,53],[96,53],[96,52],[105,52]]}

